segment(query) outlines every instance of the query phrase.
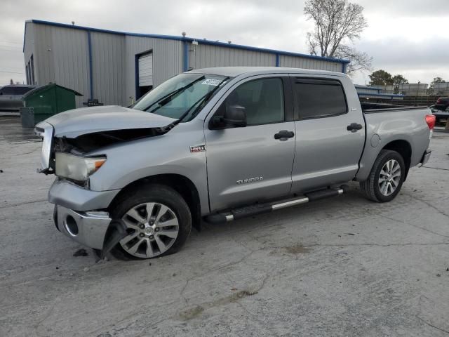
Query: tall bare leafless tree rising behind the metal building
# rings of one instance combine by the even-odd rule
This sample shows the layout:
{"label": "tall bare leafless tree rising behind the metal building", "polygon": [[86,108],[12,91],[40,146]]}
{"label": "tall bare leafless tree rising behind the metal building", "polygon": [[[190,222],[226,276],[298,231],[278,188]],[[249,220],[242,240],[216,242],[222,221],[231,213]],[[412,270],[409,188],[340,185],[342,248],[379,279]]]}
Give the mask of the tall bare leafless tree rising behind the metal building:
{"label": "tall bare leafless tree rising behind the metal building", "polygon": [[307,33],[311,55],[350,60],[348,74],[371,70],[373,59],[347,45],[359,39],[363,29],[368,27],[362,6],[348,0],[307,0],[304,14],[315,25],[314,32]]}

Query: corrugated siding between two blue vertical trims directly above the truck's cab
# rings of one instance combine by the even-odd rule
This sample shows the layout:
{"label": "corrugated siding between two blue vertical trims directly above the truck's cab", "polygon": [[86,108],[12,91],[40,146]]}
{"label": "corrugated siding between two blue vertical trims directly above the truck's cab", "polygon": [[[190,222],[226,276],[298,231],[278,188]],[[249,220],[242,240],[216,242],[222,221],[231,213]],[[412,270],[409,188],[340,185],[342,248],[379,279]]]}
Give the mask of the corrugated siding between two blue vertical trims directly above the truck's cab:
{"label": "corrugated siding between two blue vertical trims directly above the truck's cab", "polygon": [[199,41],[196,51],[189,44],[189,68],[199,69],[208,67],[230,66],[276,66],[276,55],[260,51],[246,51],[244,49],[225,48],[201,44]]}

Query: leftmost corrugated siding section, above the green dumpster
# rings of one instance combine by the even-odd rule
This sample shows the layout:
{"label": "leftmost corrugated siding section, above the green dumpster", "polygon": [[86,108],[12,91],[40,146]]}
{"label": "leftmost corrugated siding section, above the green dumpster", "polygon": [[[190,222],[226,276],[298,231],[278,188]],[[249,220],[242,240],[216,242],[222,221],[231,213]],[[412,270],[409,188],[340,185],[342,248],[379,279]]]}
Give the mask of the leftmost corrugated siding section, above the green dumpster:
{"label": "leftmost corrugated siding section, above the green dumpster", "polygon": [[34,67],[38,85],[54,82],[72,88],[83,97],[76,98],[82,107],[89,92],[87,32],[34,25]]}

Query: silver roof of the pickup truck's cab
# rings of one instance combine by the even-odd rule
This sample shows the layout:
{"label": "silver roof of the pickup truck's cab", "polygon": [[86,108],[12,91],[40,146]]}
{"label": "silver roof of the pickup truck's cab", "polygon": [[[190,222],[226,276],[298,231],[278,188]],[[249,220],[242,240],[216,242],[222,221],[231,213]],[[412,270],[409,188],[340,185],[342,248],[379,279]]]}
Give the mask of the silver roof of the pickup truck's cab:
{"label": "silver roof of the pickup truck's cab", "polygon": [[302,68],[286,68],[286,67],[212,67],[190,70],[189,72],[200,74],[213,74],[229,77],[236,77],[241,74],[270,74],[270,73],[286,73],[286,74],[317,74],[317,75],[339,75],[346,77],[342,72],[328,72],[326,70],[311,70]]}

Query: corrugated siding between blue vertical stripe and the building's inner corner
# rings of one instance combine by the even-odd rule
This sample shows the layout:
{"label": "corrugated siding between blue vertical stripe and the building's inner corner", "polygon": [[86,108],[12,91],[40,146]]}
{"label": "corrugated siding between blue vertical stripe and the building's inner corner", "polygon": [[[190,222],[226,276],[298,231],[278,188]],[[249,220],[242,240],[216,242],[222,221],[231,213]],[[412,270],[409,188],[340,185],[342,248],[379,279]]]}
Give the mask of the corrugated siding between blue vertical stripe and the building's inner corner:
{"label": "corrugated siding between blue vertical stripe and the building's inner corner", "polygon": [[105,105],[123,105],[125,95],[123,81],[124,35],[91,32],[91,48],[92,98],[98,99],[98,102]]}

